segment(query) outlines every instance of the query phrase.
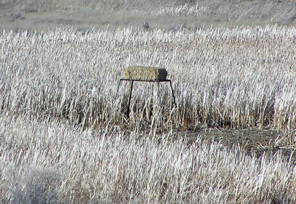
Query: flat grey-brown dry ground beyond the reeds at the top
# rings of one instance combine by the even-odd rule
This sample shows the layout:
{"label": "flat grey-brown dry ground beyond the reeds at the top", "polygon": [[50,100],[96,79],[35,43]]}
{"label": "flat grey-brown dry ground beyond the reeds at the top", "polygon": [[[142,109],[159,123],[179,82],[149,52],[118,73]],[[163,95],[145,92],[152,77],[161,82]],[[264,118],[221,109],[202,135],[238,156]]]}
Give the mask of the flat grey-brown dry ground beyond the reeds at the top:
{"label": "flat grey-brown dry ground beyond the reeds at the top", "polygon": [[[170,13],[164,10],[185,3],[197,6],[199,13]],[[164,9],[161,14],[159,11]],[[178,10],[177,9],[177,10]],[[175,9],[176,10],[176,9]],[[183,7],[184,10],[184,7]],[[157,14],[158,13],[158,14]],[[2,0],[0,2],[0,30],[40,30],[71,27],[78,29],[106,29],[141,27],[143,21],[151,29],[174,29],[185,25],[188,29],[201,27],[237,27],[266,24],[295,25],[294,0],[164,0],[164,1],[96,1],[81,3],[75,0],[38,1]]]}

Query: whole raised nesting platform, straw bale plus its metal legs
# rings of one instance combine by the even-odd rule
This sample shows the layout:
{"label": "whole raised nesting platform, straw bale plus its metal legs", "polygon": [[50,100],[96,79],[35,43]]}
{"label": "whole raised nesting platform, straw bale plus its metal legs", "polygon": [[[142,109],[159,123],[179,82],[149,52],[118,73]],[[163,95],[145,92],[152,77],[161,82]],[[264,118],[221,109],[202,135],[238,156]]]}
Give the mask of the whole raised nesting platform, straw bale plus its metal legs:
{"label": "whole raised nesting platform, straw bale plus its metal legs", "polygon": [[130,86],[130,93],[129,93],[127,117],[129,117],[133,84],[135,81],[137,81],[137,82],[156,82],[158,85],[157,86],[157,88],[158,88],[157,93],[158,93],[158,99],[159,99],[160,104],[161,104],[161,99],[160,99],[159,84],[160,84],[160,82],[169,82],[171,89],[172,89],[172,96],[174,99],[174,104],[175,104],[175,106],[177,106],[172,82],[171,82],[171,80],[166,79],[167,74],[168,73],[164,68],[158,68],[158,67],[131,66],[131,67],[126,67],[126,68],[122,69],[122,78],[119,80],[116,94],[115,94],[115,99],[117,98],[117,94],[118,94],[118,90],[119,90],[121,82],[122,81],[127,81],[127,82],[130,81],[131,86]]}

